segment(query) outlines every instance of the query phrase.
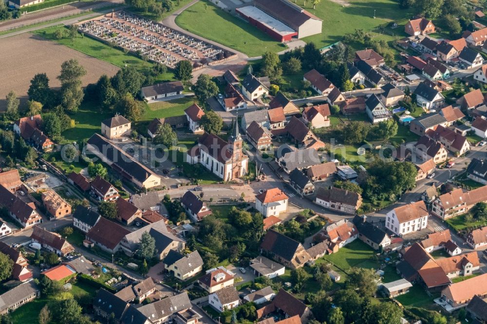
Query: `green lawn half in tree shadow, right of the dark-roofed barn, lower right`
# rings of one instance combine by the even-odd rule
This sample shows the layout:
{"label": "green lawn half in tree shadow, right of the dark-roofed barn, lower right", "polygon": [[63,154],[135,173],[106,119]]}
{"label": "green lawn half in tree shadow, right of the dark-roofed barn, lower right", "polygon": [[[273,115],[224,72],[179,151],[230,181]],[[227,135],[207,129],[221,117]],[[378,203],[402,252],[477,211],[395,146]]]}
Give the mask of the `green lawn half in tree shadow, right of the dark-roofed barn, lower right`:
{"label": "green lawn half in tree shadow, right of the dark-roofed barn, lower right", "polygon": [[352,267],[377,268],[378,262],[372,260],[375,251],[364,242],[356,239],[341,248],[337,253],[327,254],[323,257],[338,269],[347,271]]}

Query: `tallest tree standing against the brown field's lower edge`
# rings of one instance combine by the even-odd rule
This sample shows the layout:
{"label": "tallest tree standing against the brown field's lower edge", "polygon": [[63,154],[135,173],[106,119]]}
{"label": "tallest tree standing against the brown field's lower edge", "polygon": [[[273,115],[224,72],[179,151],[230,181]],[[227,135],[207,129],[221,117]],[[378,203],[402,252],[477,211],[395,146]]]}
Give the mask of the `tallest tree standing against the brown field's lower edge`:
{"label": "tallest tree standing against the brown field's lower edge", "polygon": [[61,72],[57,76],[61,83],[61,105],[69,112],[78,111],[78,107],[83,101],[84,92],[81,77],[85,74],[86,69],[79,65],[75,58],[61,64]]}

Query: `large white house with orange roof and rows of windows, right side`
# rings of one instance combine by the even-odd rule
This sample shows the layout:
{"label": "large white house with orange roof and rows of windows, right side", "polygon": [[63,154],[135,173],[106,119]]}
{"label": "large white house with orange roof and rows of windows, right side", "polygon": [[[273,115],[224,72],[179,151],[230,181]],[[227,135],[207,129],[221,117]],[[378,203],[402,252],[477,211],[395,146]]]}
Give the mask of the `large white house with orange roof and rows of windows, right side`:
{"label": "large white house with orange roof and rows of windows, right side", "polygon": [[386,216],[386,227],[396,235],[403,236],[428,227],[428,209],[423,200],[394,208]]}

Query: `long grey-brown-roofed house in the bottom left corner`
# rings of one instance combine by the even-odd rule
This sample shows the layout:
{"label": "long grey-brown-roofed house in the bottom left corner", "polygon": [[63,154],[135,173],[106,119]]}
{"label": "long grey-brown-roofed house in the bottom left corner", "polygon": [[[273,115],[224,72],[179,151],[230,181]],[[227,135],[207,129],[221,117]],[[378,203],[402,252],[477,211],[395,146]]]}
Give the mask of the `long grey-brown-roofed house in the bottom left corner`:
{"label": "long grey-brown-roofed house in the bottom left corner", "polygon": [[22,305],[25,305],[40,296],[40,289],[34,280],[7,290],[0,295],[0,315],[7,314]]}

